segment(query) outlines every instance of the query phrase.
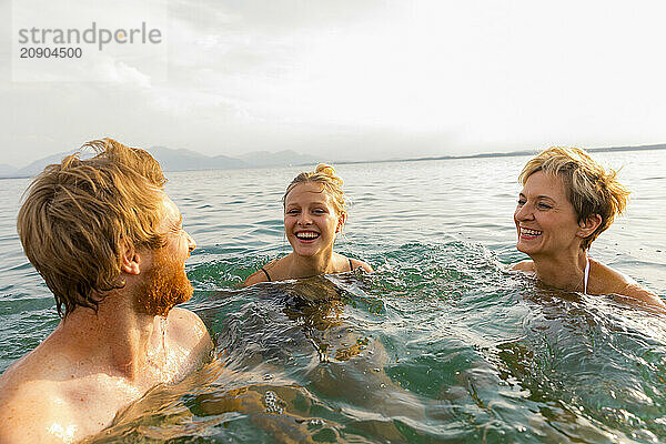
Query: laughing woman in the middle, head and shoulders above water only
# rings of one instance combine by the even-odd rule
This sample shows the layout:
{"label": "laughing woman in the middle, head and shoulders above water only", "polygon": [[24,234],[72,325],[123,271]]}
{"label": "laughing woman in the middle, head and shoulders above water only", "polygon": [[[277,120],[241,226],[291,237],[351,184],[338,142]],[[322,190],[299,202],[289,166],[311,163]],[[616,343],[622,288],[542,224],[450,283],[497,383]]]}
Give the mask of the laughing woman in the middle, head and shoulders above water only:
{"label": "laughing woman in the middle, head and shoulders above water only", "polygon": [[342,183],[333,167],[323,163],[315,171],[302,172],[294,178],[282,198],[284,232],[293,251],[250,275],[245,286],[344,273],[359,268],[373,271],[363,261],[333,252],[335,239],[347,216]]}

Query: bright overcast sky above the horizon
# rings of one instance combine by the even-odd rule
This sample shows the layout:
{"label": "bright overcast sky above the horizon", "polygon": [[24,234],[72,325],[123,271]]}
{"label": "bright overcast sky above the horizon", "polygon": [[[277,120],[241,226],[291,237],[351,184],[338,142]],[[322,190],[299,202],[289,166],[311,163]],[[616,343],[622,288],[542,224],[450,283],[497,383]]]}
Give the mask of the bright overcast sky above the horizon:
{"label": "bright overcast sky above the horizon", "polygon": [[14,167],[107,135],[329,160],[666,143],[662,0],[169,0],[168,80],[111,82],[12,81],[0,1]]}

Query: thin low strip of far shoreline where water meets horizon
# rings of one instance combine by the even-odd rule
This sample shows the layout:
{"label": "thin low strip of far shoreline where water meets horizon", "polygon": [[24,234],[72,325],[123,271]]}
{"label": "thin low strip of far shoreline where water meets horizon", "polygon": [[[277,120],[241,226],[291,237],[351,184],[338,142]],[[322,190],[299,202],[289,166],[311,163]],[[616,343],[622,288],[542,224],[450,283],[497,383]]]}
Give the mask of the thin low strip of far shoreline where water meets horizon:
{"label": "thin low strip of far shoreline where water meets horizon", "polygon": [[[620,152],[620,151],[652,151],[652,150],[666,150],[666,144],[654,144],[654,145],[638,145],[638,147],[608,147],[608,148],[591,148],[587,152]],[[149,149],[150,152],[150,149]],[[514,158],[519,155],[534,155],[538,150],[523,150],[523,151],[511,151],[511,152],[498,152],[498,153],[480,153],[480,154],[467,154],[467,155],[436,155],[425,158],[406,158],[406,159],[386,159],[386,160],[359,160],[359,161],[335,161],[336,165],[352,165],[361,163],[389,163],[389,162],[423,162],[432,160],[456,160],[456,159],[485,159],[485,158]],[[296,153],[297,154],[297,153]],[[199,154],[201,155],[201,154]],[[232,159],[232,158],[229,158]],[[50,162],[53,163],[53,162]],[[294,163],[284,163],[275,165],[248,165],[246,169],[260,169],[260,168],[284,168],[284,167],[302,167],[311,165],[311,160],[306,162],[295,161]],[[232,170],[238,168],[190,168],[190,169],[169,169],[165,168],[165,172],[178,172],[178,171],[215,171],[215,170]],[[36,174],[3,174],[1,179],[28,179]]]}

